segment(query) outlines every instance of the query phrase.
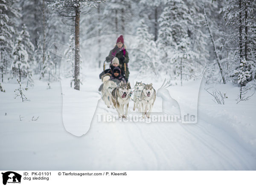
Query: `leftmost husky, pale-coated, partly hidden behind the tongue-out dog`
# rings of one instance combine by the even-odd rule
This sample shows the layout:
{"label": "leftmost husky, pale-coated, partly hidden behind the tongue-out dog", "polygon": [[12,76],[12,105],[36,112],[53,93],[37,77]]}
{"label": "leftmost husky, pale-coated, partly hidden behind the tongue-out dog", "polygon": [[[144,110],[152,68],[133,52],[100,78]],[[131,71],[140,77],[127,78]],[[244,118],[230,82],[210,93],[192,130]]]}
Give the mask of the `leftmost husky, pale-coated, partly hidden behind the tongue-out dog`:
{"label": "leftmost husky, pale-coated, partly hidden behind the tongue-out dog", "polygon": [[108,80],[107,78],[109,76],[105,76],[103,78],[103,86],[102,86],[102,99],[107,105],[108,108],[110,108],[110,105],[112,105],[112,100],[111,100],[111,92],[114,90],[116,86],[116,82]]}

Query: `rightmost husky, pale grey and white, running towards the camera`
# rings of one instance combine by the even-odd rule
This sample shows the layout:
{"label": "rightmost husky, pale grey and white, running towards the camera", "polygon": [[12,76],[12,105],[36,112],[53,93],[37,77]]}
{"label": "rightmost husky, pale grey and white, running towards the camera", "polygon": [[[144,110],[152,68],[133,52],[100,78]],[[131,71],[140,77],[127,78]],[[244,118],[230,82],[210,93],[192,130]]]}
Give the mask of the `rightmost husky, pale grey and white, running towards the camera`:
{"label": "rightmost husky, pale grey and white, running towards the camera", "polygon": [[[154,88],[152,87],[152,83],[145,84],[140,96],[143,118],[145,117],[145,115],[148,118],[150,118],[150,113],[154,106],[155,99],[156,99],[156,90],[154,90]],[[147,110],[148,110],[148,113],[147,113]]]}

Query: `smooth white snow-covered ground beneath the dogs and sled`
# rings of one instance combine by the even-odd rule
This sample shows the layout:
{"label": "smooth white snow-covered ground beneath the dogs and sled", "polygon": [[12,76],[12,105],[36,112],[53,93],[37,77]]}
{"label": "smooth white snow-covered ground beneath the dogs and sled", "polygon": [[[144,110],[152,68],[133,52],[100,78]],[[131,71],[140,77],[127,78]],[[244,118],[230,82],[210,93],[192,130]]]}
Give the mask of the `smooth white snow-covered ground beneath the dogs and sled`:
{"label": "smooth white snow-covered ground beneath the dogs and sled", "polygon": [[[35,81],[35,87],[24,92],[30,102],[14,99],[17,83],[2,84],[6,93],[0,92],[0,169],[256,170],[256,96],[236,104],[238,87],[202,83],[197,124],[98,122],[96,113],[116,114],[100,100],[99,73],[87,71],[79,92],[70,90],[65,80],[52,83],[51,89]],[[135,78],[131,72],[131,84],[140,80]],[[150,81],[155,89],[162,84],[156,78]],[[167,89],[176,100],[185,97],[177,101],[189,107],[194,98],[187,93],[193,86],[184,82],[183,87]],[[214,103],[205,87],[227,92],[225,105]],[[162,112],[162,101],[157,97],[153,112]],[[179,114],[177,102],[173,104],[167,105],[169,112]],[[131,101],[129,114],[138,114],[132,108]],[[33,116],[38,120],[32,121]],[[90,129],[76,137],[65,128],[80,134]]]}

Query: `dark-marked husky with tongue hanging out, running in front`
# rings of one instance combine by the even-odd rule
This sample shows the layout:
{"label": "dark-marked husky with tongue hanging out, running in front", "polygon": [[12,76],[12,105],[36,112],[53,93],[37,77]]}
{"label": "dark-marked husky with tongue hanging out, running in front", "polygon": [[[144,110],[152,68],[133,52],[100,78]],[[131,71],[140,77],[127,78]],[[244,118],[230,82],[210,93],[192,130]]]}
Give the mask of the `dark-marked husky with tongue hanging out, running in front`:
{"label": "dark-marked husky with tongue hanging out, running in front", "polygon": [[[128,83],[121,83],[118,87],[116,87],[112,93],[111,98],[116,111],[118,112],[119,117],[126,118],[128,114],[128,106],[130,101],[130,93],[131,93],[131,85]],[[124,105],[125,105],[125,113],[124,113]]]}

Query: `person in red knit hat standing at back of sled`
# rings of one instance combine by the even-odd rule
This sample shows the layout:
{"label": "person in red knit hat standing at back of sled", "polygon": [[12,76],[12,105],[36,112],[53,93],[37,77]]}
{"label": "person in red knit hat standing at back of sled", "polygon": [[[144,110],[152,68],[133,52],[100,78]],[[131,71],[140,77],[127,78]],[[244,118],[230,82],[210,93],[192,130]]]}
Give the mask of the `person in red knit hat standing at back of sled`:
{"label": "person in red knit hat standing at back of sled", "polygon": [[129,74],[130,74],[128,69],[129,56],[128,56],[128,52],[126,51],[126,46],[124,44],[124,38],[122,35],[120,35],[120,37],[117,38],[116,45],[109,52],[109,55],[106,57],[106,61],[110,62],[113,60],[114,57],[119,59],[121,72],[123,76],[125,76],[126,81],[128,81]]}

